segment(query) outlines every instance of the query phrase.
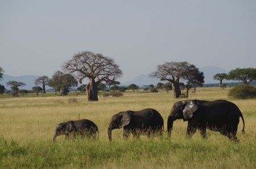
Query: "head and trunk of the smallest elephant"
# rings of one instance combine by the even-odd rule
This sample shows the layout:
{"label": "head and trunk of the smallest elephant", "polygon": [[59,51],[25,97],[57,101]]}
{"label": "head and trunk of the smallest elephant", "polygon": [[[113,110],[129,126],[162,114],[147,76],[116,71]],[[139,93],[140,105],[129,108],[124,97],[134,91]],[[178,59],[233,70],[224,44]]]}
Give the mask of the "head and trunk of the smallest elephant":
{"label": "head and trunk of the smallest elephant", "polygon": [[56,126],[52,140],[55,141],[57,136],[67,135],[68,133],[74,132],[75,130],[76,126],[73,121],[60,123]]}

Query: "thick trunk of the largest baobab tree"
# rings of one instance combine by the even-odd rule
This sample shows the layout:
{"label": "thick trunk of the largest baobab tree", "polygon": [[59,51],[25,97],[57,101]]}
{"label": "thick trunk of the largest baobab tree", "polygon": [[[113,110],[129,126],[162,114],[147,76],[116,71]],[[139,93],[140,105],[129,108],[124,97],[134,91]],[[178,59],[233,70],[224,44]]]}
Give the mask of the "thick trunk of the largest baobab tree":
{"label": "thick trunk of the largest baobab tree", "polygon": [[90,78],[86,85],[88,101],[98,101],[98,83],[95,82],[94,78]]}

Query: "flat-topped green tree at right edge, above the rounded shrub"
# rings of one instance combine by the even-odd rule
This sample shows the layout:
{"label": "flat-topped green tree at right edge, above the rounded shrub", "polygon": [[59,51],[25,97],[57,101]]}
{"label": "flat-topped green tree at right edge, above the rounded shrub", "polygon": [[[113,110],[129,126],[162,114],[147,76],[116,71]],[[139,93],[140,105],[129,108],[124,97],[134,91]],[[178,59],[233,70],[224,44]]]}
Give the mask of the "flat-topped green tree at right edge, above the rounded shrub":
{"label": "flat-topped green tree at right edge, above the rounded shrub", "polygon": [[234,81],[242,81],[245,84],[250,84],[256,81],[256,69],[254,68],[237,68],[229,71],[227,79]]}

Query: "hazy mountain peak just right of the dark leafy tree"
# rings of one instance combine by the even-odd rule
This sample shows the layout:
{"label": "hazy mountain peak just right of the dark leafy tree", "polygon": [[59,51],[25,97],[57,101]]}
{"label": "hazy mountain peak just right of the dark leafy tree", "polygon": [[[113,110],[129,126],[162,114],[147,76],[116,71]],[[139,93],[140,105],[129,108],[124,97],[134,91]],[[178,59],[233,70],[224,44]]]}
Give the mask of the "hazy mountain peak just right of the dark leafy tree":
{"label": "hazy mountain peak just right of the dark leafy tree", "polygon": [[213,80],[213,76],[217,73],[228,73],[228,71],[217,66],[200,67],[199,70],[204,72],[204,83],[218,83],[218,81]]}

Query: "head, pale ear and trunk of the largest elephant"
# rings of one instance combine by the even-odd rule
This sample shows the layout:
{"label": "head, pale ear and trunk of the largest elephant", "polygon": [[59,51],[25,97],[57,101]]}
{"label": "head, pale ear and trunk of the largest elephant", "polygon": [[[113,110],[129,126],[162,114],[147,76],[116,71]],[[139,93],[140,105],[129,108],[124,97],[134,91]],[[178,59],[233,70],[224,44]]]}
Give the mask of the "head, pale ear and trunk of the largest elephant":
{"label": "head, pale ear and trunk of the largest elephant", "polygon": [[197,111],[198,107],[193,100],[184,100],[181,102],[176,102],[171,109],[170,115],[167,121],[167,131],[168,135],[171,135],[172,125],[177,119],[183,119],[187,121],[191,119],[194,113]]}

